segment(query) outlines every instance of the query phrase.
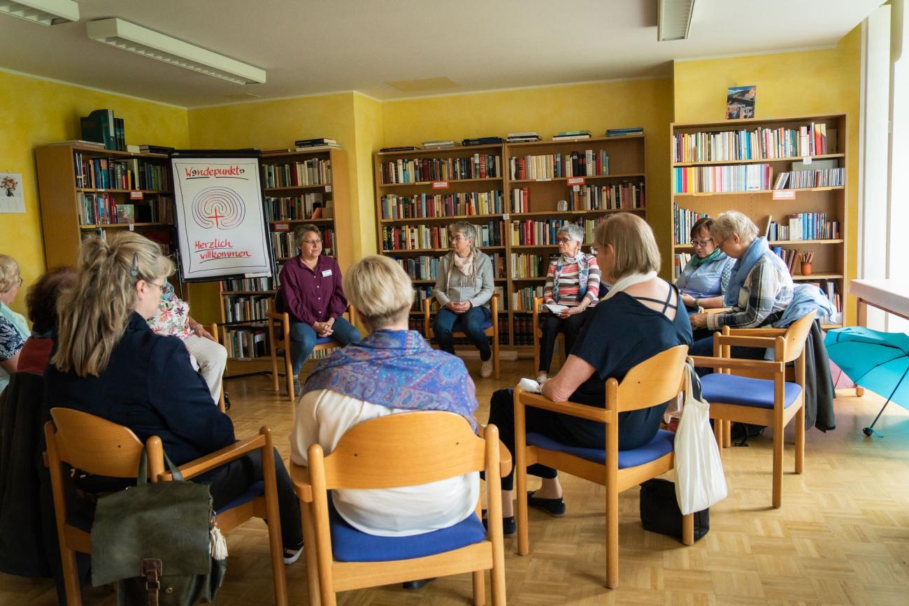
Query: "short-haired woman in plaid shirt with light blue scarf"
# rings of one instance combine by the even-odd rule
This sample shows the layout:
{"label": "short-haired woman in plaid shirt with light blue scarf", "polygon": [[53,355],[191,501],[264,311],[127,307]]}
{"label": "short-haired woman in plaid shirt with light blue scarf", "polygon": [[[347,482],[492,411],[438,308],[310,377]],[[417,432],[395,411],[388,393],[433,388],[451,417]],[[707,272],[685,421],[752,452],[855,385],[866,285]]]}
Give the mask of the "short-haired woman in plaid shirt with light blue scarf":
{"label": "short-haired woman in plaid shirt with light blue scarf", "polygon": [[[793,279],[789,269],[767,245],[767,239],[757,237],[757,225],[746,215],[729,211],[716,217],[710,227],[716,247],[736,259],[729,285],[724,293],[721,313],[694,313],[691,326],[699,331],[691,348],[692,355],[713,355],[713,332],[724,326],[757,328],[774,323],[793,299]],[[734,358],[760,358],[763,349],[734,347]]]}

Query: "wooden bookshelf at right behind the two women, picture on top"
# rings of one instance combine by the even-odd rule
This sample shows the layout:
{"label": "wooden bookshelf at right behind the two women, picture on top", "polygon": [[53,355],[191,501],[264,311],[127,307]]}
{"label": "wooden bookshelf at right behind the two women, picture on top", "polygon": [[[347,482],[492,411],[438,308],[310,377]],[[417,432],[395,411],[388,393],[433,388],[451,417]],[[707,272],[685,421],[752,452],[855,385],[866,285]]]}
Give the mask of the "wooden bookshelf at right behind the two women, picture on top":
{"label": "wooden bookshelf at right behind the two women, picture on top", "polygon": [[[692,252],[690,244],[687,243],[687,230],[691,219],[688,219],[685,224],[681,224],[680,221],[684,220],[685,217],[681,213],[676,213],[676,208],[692,211],[696,214],[709,214],[714,217],[728,210],[739,211],[751,217],[754,224],[762,231],[761,235],[766,235],[764,230],[767,228],[768,216],[773,217],[774,222],[788,226],[788,217],[791,214],[825,214],[826,221],[837,222],[838,224],[836,233],[830,233],[830,237],[815,236],[810,239],[799,239],[790,234],[786,239],[771,240],[768,243],[771,247],[780,246],[784,250],[794,249],[803,252],[813,252],[814,262],[811,275],[802,275],[800,264],[796,262],[794,263],[793,280],[799,283],[816,281],[821,283],[822,287],[826,286],[828,281],[832,282],[836,293],[839,294],[841,303],[838,311],[843,313],[842,317],[845,317],[848,286],[847,281],[844,279],[847,273],[845,233],[848,216],[846,213],[846,192],[848,191],[846,175],[848,170],[846,154],[844,153],[847,149],[846,120],[846,114],[823,114],[776,118],[773,120],[748,119],[727,120],[717,123],[672,124],[670,134],[670,149],[672,150],[670,183],[673,192],[673,204],[670,220],[672,221],[672,233],[675,238],[675,256],[677,257],[679,253]],[[754,133],[755,129],[777,131],[794,129],[794,131],[798,132],[800,127],[810,124],[823,124],[826,134],[825,149],[820,145],[813,150],[805,148],[804,145],[796,145],[788,148],[792,153],[776,154],[779,157],[761,157],[760,151],[753,146],[753,154],[750,156],[736,154],[738,157],[714,156],[706,159],[699,157],[696,161],[693,161],[691,157],[678,157],[679,150],[677,149],[676,135],[720,134],[741,130]],[[798,137],[796,137],[796,141],[797,139]],[[704,148],[702,147],[702,149]],[[793,170],[793,163],[802,163],[806,160],[812,164],[814,164],[814,161],[833,161],[832,164],[842,169],[842,184],[800,188],[784,186],[783,189],[774,189],[774,184],[780,173],[791,171]],[[677,169],[749,164],[769,164],[771,170],[769,185],[752,191],[708,193],[679,193],[678,191],[680,188],[677,178],[680,171]],[[827,162],[823,164],[827,164]],[[812,169],[811,164],[806,165],[804,168]],[[785,196],[788,196],[788,198]],[[824,234],[821,235],[823,236]],[[676,259],[677,261],[678,259]],[[675,267],[678,267],[677,263]],[[829,326],[838,325],[841,324],[835,323]]]}

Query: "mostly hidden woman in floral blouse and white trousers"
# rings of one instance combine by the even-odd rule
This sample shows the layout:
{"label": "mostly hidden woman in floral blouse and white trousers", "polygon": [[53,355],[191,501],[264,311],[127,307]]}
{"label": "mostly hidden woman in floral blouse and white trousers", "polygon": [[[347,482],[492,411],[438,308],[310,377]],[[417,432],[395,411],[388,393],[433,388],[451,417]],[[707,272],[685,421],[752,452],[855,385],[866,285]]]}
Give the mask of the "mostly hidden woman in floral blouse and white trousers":
{"label": "mostly hidden woman in floral blouse and white trousers", "polygon": [[221,399],[221,379],[227,367],[227,350],[215,341],[205,326],[189,315],[189,303],[174,293],[174,285],[165,282],[164,293],[148,325],[156,334],[179,337],[186,351],[198,365],[215,403]]}

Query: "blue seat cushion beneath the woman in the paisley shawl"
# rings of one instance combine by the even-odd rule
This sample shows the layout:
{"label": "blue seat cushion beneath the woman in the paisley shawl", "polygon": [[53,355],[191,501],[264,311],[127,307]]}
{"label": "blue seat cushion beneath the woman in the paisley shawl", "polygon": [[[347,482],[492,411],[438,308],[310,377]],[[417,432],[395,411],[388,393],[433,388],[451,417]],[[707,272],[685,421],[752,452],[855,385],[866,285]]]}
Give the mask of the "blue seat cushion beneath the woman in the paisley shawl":
{"label": "blue seat cushion beneath the woman in the paisley shawl", "polygon": [[336,561],[393,561],[423,558],[483,541],[486,531],[475,513],[463,522],[409,537],[379,537],[356,530],[335,511],[328,498],[328,522]]}

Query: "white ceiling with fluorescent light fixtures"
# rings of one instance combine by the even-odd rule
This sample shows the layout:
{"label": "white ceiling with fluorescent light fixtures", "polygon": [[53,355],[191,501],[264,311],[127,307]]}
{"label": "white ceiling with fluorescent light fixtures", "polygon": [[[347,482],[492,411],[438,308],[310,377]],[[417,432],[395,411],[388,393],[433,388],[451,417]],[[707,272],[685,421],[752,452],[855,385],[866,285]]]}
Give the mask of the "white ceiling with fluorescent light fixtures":
{"label": "white ceiling with fluorescent light fixtures", "polygon": [[[881,0],[695,0],[688,40],[656,42],[656,0],[81,0],[75,23],[0,15],[0,67],[184,107],[447,77],[457,93],[672,75],[672,60],[834,45]],[[231,84],[99,44],[118,16],[265,69]],[[250,100],[252,97],[247,97]]]}

